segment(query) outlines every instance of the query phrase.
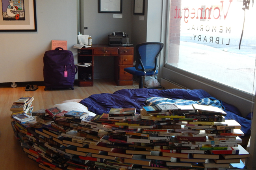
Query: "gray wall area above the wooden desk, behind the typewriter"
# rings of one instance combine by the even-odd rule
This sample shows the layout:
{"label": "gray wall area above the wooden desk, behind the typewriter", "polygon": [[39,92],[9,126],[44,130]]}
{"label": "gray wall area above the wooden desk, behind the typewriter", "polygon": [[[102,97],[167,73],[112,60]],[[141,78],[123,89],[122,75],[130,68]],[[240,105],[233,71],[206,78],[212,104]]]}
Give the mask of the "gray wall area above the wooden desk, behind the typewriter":
{"label": "gray wall area above the wooden desk, behind the typewriter", "polygon": [[[98,0],[81,0],[81,33],[88,34],[93,44],[108,44],[108,34],[122,31],[131,36],[132,0],[122,1],[122,18],[113,18],[113,13],[98,13]],[[87,30],[83,28],[87,27]],[[131,37],[130,37],[131,38]]]}

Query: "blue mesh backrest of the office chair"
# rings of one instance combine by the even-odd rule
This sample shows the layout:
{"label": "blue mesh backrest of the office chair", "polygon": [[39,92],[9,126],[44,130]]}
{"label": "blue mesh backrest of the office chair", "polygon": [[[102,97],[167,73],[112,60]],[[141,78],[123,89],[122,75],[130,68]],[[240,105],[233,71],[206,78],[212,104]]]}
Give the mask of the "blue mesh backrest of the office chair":
{"label": "blue mesh backrest of the office chair", "polygon": [[137,44],[136,70],[143,72],[158,70],[158,56],[163,46],[163,42],[144,42]]}

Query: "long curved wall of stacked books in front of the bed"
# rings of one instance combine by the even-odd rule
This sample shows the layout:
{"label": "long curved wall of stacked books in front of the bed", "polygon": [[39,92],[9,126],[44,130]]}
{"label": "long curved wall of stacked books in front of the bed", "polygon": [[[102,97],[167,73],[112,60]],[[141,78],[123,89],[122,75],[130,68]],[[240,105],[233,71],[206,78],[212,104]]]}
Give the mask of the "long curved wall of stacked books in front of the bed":
{"label": "long curved wall of stacked books in front of the bed", "polygon": [[[102,115],[61,112],[57,107],[45,113],[35,111],[35,120],[23,124],[13,120],[12,126],[28,157],[46,170],[234,170],[244,166],[241,159],[249,153],[239,145],[239,136],[244,135],[241,126],[225,120],[223,111],[210,111],[209,106],[208,112],[206,108],[202,112],[197,107],[158,105],[143,107],[140,114],[135,108],[121,108]],[[52,122],[39,121],[41,127],[35,126],[38,117],[50,117]]]}

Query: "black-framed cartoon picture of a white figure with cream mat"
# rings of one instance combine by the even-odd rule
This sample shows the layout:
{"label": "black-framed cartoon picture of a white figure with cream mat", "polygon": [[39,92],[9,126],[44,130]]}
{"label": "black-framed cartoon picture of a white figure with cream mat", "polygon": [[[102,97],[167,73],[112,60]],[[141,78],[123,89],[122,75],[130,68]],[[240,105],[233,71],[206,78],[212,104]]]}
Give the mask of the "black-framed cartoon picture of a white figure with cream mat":
{"label": "black-framed cartoon picture of a white figure with cream mat", "polygon": [[0,31],[37,31],[35,0],[0,0]]}

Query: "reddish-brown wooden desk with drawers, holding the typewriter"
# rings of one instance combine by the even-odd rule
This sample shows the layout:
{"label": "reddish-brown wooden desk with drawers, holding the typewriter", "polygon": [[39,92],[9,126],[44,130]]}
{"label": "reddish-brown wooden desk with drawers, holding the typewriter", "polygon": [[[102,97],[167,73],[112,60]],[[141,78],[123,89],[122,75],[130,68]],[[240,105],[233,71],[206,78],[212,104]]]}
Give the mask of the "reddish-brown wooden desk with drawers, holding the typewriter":
{"label": "reddish-brown wooden desk with drawers, holding the typewriter", "polygon": [[[134,48],[124,46],[108,46],[93,44],[89,48],[78,49],[78,63],[92,63],[89,67],[78,66],[78,86],[93,86],[94,56],[114,56],[114,78],[117,85],[132,85],[133,75],[124,71],[126,67],[133,67]],[[106,70],[107,72],[108,70]],[[83,80],[83,75],[91,74],[91,80]]]}

